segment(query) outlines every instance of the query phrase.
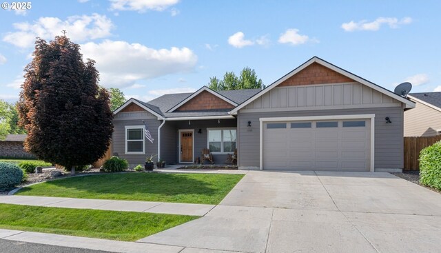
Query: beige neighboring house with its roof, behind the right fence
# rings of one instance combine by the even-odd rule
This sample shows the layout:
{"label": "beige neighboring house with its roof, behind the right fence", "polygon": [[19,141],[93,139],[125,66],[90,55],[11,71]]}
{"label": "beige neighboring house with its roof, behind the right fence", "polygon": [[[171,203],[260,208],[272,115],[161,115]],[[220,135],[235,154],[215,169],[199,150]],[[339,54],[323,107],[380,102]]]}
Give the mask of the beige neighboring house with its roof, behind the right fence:
{"label": "beige neighboring house with its roof, behind the right fence", "polygon": [[415,109],[404,112],[404,136],[441,134],[441,92],[411,93]]}

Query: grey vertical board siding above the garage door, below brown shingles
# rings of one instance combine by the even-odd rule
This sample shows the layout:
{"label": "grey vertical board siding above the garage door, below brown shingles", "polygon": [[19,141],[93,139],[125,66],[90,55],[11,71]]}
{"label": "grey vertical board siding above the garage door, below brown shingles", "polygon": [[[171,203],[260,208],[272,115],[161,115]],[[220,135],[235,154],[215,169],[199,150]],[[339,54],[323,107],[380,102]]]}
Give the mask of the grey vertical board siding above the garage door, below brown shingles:
{"label": "grey vertical board siding above the garage door, below brown shingles", "polygon": [[276,87],[249,103],[241,111],[277,112],[366,107],[401,107],[401,103],[361,83],[332,83]]}

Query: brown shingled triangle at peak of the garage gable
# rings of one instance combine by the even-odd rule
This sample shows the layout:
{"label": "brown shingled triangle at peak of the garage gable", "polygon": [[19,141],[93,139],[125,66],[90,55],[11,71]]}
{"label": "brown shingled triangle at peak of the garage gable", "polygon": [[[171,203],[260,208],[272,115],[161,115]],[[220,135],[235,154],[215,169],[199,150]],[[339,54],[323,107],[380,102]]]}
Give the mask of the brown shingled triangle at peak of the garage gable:
{"label": "brown shingled triangle at peak of the garage gable", "polygon": [[335,72],[318,63],[312,63],[294,76],[290,77],[278,86],[296,86],[323,83],[349,83],[354,82],[349,77]]}

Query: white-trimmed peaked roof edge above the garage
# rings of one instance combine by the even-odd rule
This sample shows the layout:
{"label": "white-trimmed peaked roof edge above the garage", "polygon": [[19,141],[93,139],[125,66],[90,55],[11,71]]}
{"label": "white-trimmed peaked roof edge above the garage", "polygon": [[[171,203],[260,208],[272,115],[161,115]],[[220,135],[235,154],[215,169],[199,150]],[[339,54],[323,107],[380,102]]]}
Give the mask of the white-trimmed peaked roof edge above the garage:
{"label": "white-trimmed peaked roof edge above the garage", "polygon": [[327,61],[325,61],[323,59],[320,59],[319,57],[312,57],[311,59],[309,59],[308,61],[306,61],[302,65],[298,66],[298,68],[295,68],[294,70],[292,70],[288,74],[285,74],[285,76],[281,77],[280,79],[278,79],[274,83],[271,83],[271,85],[268,85],[267,88],[265,88],[264,90],[260,91],[258,94],[256,94],[253,97],[247,99],[247,101],[245,101],[244,103],[241,103],[240,105],[238,105],[236,108],[234,108],[229,113],[230,114],[237,114],[238,110],[244,108],[246,105],[248,105],[252,101],[258,99],[258,97],[261,97],[263,94],[269,92],[273,88],[276,88],[277,85],[279,85],[280,83],[283,83],[283,81],[286,81],[290,77],[293,77],[295,74],[297,74],[298,72],[304,70],[305,68],[307,68],[309,65],[311,65],[313,63],[318,63],[320,65],[323,65],[326,68],[334,70],[335,72],[338,72],[339,74],[342,74],[343,76],[348,77],[349,79],[352,79],[353,81],[356,81],[358,83],[362,83],[363,85],[367,85],[369,88],[372,88],[373,90],[381,92],[382,94],[386,94],[387,96],[392,97],[393,99],[396,99],[396,100],[404,103],[406,105],[405,108],[414,108],[415,107],[415,103],[413,103],[409,99],[401,97],[398,94],[395,94],[395,93],[391,92],[390,90],[387,90],[385,88],[382,88],[379,85],[376,85],[375,83],[372,83],[370,81],[367,81],[366,79],[358,77],[356,74],[352,74],[351,72],[348,72],[347,70],[343,70],[342,68],[339,68],[339,67],[337,67],[336,65],[334,65],[332,63],[329,63],[329,62],[327,62]]}

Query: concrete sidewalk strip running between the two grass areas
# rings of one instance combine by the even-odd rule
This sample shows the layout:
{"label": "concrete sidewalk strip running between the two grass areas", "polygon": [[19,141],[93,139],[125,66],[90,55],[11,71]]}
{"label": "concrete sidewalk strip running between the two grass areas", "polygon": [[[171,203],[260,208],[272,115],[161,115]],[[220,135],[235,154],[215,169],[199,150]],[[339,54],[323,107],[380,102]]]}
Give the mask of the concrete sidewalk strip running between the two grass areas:
{"label": "concrete sidewalk strip running between the two grass areas", "polygon": [[149,201],[112,201],[104,199],[73,199],[50,196],[0,195],[0,203],[14,205],[37,205],[52,208],[79,208],[125,212],[152,212],[157,214],[182,214],[204,216],[215,205],[165,203]]}

